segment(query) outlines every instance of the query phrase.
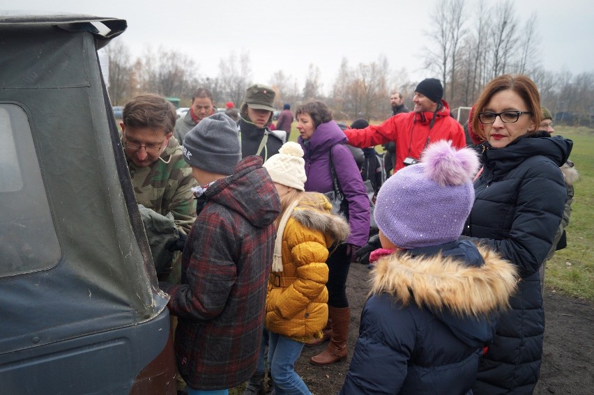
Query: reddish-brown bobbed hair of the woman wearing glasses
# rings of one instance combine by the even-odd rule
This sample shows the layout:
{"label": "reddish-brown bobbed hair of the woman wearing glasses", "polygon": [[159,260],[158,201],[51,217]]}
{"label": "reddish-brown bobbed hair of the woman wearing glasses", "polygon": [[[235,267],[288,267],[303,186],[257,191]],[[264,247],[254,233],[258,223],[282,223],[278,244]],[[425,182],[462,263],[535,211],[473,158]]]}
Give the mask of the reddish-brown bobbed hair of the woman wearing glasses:
{"label": "reddish-brown bobbed hair of the woman wearing glasses", "polygon": [[517,93],[519,97],[524,100],[524,104],[528,107],[528,112],[531,113],[529,116],[535,125],[535,130],[538,129],[538,125],[540,125],[540,120],[542,118],[538,88],[530,78],[526,77],[526,75],[504,74],[492,79],[489,84],[482,89],[482,92],[478,96],[478,100],[474,105],[471,124],[481,141],[487,140],[487,136],[485,135],[485,129],[483,128],[482,123],[478,121],[478,114],[485,109],[493,95],[501,91],[507,91],[508,89]]}

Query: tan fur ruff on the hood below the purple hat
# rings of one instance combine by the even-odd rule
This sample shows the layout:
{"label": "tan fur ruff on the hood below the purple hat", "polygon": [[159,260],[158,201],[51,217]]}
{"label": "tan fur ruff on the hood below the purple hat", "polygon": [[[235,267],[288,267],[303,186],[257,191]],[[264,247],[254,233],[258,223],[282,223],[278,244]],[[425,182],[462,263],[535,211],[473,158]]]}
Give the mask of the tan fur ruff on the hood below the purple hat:
{"label": "tan fur ruff on the hood below the purple hat", "polygon": [[395,253],[379,259],[370,280],[370,295],[388,293],[404,306],[415,302],[432,311],[448,309],[457,316],[485,316],[509,307],[518,274],[512,263],[478,247],[485,264],[467,266],[436,256]]}

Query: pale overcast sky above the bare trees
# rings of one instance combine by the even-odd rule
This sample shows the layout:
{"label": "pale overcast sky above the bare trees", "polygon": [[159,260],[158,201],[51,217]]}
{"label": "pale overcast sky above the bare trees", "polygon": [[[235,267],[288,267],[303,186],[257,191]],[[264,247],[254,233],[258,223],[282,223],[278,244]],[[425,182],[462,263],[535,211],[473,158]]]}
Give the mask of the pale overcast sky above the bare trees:
{"label": "pale overcast sky above the bare trees", "polygon": [[[479,0],[466,0],[473,10]],[[547,70],[594,71],[594,7],[591,0],[515,0],[523,24],[538,17]],[[176,49],[192,56],[199,73],[216,77],[220,59],[250,54],[254,82],[268,84],[283,70],[303,86],[310,63],[323,90],[333,84],[343,57],[349,66],[385,55],[408,79],[434,77],[422,68],[424,34],[437,0],[0,0],[1,10],[40,10],[118,17],[128,29],[117,38],[133,56],[147,47]],[[472,15],[472,13],[469,13]],[[472,21],[468,21],[469,25]]]}

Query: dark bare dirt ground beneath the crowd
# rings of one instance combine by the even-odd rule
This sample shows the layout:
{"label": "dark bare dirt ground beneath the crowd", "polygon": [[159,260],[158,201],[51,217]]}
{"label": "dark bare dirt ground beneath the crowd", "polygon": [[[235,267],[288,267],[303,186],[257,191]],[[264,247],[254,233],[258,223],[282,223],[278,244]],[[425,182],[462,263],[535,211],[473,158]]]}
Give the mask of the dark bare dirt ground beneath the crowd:
{"label": "dark bare dirt ground beneath the crowd", "polygon": [[[351,264],[347,280],[351,305],[347,362],[323,367],[310,364],[310,357],[323,350],[319,346],[304,347],[296,363],[296,371],[314,395],[337,394],[342,387],[357,341],[369,273],[367,266]],[[594,394],[594,304],[545,288],[545,317],[545,350],[534,394]]]}

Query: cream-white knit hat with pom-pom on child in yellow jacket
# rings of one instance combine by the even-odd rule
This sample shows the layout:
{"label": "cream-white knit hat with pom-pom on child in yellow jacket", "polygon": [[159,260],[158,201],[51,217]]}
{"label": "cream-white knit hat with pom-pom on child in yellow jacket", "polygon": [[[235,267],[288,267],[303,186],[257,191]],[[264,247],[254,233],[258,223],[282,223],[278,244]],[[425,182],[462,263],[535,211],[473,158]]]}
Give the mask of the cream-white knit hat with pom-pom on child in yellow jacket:
{"label": "cream-white knit hat with pom-pom on child in yellow jacket", "polygon": [[305,190],[305,161],[303,149],[297,143],[288,141],[278,153],[268,158],[262,165],[268,170],[273,181],[280,185]]}

